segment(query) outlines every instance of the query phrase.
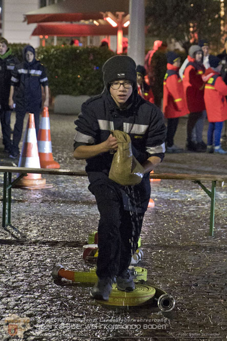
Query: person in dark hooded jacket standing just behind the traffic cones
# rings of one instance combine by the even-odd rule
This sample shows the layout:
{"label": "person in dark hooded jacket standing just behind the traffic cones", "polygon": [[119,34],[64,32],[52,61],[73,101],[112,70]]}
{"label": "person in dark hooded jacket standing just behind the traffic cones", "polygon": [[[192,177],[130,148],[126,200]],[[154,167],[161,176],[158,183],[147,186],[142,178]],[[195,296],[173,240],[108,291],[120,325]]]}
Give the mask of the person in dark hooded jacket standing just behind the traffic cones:
{"label": "person in dark hooded jacket standing just behind the traffic cones", "polygon": [[[19,155],[19,142],[22,137],[23,122],[26,112],[33,113],[36,136],[39,129],[39,114],[42,108],[42,89],[44,87],[44,107],[49,106],[49,88],[46,69],[35,59],[35,50],[27,45],[23,50],[24,62],[17,65],[12,72],[9,106],[12,108],[15,100],[16,123],[13,132],[13,145],[10,157]],[[16,88],[16,94],[14,94]],[[15,98],[14,98],[15,97]]]}

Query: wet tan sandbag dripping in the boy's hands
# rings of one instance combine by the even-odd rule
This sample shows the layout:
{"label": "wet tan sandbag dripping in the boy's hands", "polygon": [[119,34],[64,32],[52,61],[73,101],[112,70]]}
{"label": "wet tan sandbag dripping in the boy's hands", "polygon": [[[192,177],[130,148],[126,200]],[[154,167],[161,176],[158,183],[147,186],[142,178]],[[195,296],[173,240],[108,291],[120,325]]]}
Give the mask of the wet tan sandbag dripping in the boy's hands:
{"label": "wet tan sandbag dripping in the boy's hands", "polygon": [[109,178],[122,186],[138,185],[144,168],[132,154],[130,136],[120,130],[113,130],[111,134],[117,139],[117,151],[113,156]]}

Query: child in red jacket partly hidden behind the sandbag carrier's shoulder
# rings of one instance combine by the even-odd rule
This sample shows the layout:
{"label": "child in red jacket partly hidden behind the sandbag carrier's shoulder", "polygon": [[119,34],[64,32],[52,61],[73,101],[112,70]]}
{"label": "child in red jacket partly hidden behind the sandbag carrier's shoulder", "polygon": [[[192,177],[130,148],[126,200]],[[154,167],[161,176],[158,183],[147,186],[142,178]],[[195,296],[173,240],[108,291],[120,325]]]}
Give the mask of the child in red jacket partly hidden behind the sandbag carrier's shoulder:
{"label": "child in red jacket partly hidden behind the sandbag carrier's shoulder", "polygon": [[146,101],[154,104],[154,95],[151,87],[145,82],[146,69],[142,65],[136,67],[138,94]]}

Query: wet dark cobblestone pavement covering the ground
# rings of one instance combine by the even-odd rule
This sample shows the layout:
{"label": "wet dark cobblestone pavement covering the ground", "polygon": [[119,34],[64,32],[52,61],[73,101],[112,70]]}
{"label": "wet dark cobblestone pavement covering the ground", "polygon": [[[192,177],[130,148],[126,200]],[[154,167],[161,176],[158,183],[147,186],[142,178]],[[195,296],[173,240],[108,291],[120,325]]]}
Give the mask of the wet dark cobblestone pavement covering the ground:
{"label": "wet dark cobblestone pavement covering the ground", "polygon": [[[84,161],[72,157],[74,117],[50,114],[50,118],[54,159],[61,168],[84,170]],[[180,147],[184,147],[186,122],[180,119],[176,136]],[[17,164],[4,155],[2,145],[0,149],[2,165]],[[166,154],[156,171],[226,175],[226,160],[227,155]],[[3,183],[3,174],[0,176]],[[44,177],[53,188],[12,190],[12,223],[25,238],[0,230],[0,340],[227,338],[227,184],[217,189],[211,237],[210,198],[197,184],[182,180],[151,183],[155,207],[145,215],[141,233],[144,257],[139,265],[148,269],[148,284],[176,299],[174,310],[162,312],[155,305],[100,305],[89,297],[91,285],[66,279],[54,282],[51,268],[59,263],[68,270],[89,271],[91,266],[82,259],[82,246],[97,229],[99,215],[87,189],[87,177]],[[210,188],[211,184],[205,185]],[[10,336],[16,326],[17,335]]]}

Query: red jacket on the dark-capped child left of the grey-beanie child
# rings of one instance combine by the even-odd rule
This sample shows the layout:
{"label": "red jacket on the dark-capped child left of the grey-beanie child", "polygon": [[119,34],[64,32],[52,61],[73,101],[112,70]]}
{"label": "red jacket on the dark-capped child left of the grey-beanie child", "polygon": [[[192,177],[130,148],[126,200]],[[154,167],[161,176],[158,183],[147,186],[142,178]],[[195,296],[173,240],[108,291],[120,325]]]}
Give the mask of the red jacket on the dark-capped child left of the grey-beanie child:
{"label": "red jacket on the dark-capped child left of the grey-beanie child", "polygon": [[163,113],[166,118],[180,117],[189,113],[178,71],[178,67],[167,64],[163,81]]}

